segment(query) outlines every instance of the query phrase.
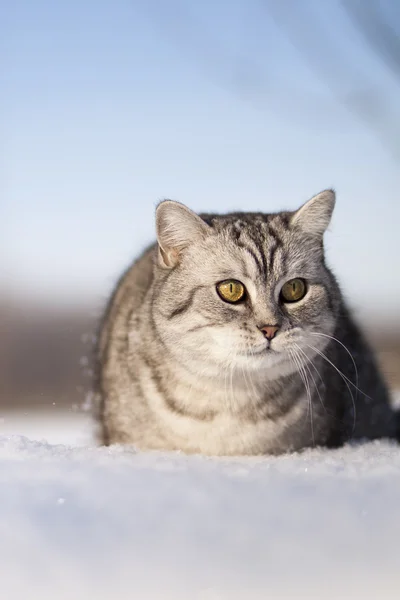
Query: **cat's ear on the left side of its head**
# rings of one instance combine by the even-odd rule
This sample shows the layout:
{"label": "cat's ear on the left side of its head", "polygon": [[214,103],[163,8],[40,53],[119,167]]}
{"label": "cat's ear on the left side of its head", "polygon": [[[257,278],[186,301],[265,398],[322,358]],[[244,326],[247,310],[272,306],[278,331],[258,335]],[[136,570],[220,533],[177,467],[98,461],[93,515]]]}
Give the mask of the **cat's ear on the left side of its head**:
{"label": "cat's ear on the left side of its head", "polygon": [[163,267],[172,268],[181,253],[195,240],[204,238],[210,227],[180,202],[164,200],[156,210],[159,258]]}

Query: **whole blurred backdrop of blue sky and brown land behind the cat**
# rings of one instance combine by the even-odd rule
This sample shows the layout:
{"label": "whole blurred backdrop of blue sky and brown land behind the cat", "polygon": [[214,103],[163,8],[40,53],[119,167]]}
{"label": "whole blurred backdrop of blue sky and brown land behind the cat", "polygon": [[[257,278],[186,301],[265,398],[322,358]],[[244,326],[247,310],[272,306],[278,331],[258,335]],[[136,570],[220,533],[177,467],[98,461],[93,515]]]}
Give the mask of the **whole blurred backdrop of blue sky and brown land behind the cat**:
{"label": "whole blurred backdrop of blue sky and brown land behind the cat", "polygon": [[0,5],[0,434],[86,443],[96,320],[154,208],[294,209],[400,387],[400,3]]}

